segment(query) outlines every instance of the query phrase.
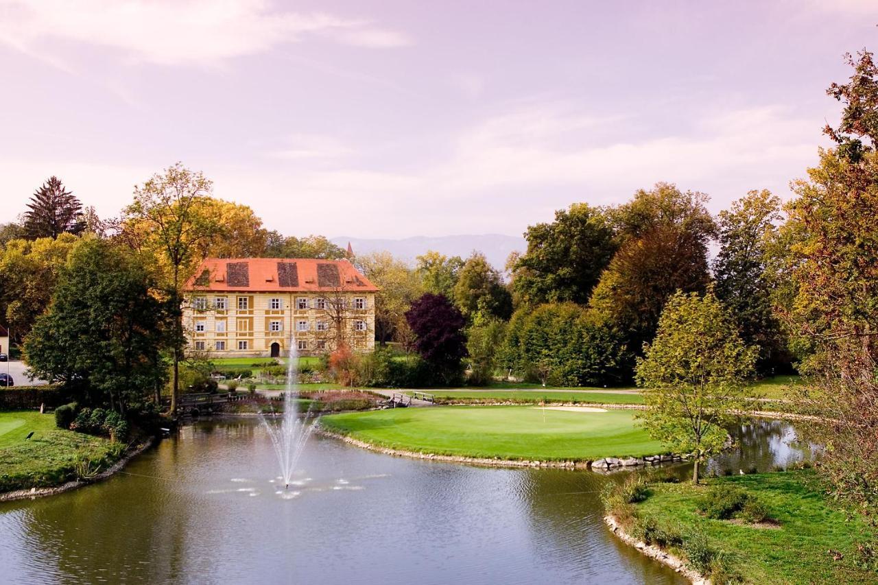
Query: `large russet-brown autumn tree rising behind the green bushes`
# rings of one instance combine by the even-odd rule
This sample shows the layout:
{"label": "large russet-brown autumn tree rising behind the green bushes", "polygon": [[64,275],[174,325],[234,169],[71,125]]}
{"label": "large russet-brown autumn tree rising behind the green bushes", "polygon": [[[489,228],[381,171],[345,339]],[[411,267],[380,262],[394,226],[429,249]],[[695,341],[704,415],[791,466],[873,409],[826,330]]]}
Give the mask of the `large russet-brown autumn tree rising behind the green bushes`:
{"label": "large russet-brown autumn tree rising behind the green bushes", "polygon": [[639,352],[655,335],[673,293],[700,293],[709,284],[708,242],[716,224],[706,201],[702,193],[659,183],[613,210],[622,245],[589,304],[626,332],[631,350]]}

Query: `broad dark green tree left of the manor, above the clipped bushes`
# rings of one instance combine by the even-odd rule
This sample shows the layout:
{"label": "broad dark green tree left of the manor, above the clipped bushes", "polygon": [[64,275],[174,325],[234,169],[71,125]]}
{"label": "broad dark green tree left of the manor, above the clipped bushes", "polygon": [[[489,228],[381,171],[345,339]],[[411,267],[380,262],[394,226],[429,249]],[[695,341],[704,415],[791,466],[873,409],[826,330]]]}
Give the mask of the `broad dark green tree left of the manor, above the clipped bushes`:
{"label": "broad dark green tree left of the manor, above the clipped bushes", "polygon": [[123,414],[151,394],[166,372],[159,357],[166,307],[147,264],[110,242],[78,243],[51,306],[25,338],[31,371]]}

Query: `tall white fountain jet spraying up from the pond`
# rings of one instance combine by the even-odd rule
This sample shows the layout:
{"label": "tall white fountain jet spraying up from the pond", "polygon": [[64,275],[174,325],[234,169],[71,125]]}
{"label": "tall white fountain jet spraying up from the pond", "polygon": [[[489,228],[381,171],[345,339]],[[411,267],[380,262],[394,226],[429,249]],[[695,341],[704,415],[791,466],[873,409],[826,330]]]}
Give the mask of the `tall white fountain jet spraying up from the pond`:
{"label": "tall white fountain jet spraying up from the pond", "polygon": [[292,474],[296,470],[302,451],[308,437],[311,436],[313,424],[307,424],[306,420],[299,420],[299,404],[293,394],[298,386],[298,362],[299,352],[296,346],[296,336],[290,336],[289,365],[286,369],[286,388],[284,389],[284,414],[281,423],[270,422],[266,415],[262,415],[265,430],[271,437],[271,444],[277,453],[277,462],[280,464],[280,480],[284,483],[284,489],[289,489]]}

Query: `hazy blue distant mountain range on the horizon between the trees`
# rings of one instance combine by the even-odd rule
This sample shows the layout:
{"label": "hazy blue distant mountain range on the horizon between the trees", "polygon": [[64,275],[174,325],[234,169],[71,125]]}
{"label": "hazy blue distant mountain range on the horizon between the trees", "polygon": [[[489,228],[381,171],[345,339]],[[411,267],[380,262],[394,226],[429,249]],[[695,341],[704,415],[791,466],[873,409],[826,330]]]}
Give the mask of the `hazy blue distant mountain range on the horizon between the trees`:
{"label": "hazy blue distant mountain range on the horizon between the trees", "polygon": [[347,248],[348,242],[350,242],[354,254],[387,251],[401,260],[412,263],[414,263],[416,256],[421,256],[431,249],[441,252],[445,256],[460,256],[462,258],[470,256],[472,250],[478,250],[499,271],[503,271],[510,252],[514,250],[523,252],[528,247],[527,242],[522,237],[500,234],[443,235],[441,237],[418,235],[401,240],[338,236],[331,238],[331,240],[342,248]]}

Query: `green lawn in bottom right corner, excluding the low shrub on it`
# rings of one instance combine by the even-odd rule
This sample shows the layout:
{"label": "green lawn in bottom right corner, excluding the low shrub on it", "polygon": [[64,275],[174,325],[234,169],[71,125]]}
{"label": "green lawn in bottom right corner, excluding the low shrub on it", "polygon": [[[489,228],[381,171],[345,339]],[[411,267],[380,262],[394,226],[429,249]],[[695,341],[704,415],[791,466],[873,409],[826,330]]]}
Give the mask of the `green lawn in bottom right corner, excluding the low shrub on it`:
{"label": "green lawn in bottom right corner, excluding the low shrub on it", "polygon": [[[701,531],[717,549],[730,554],[732,567],[753,583],[874,583],[878,575],[856,567],[857,544],[868,541],[859,518],[846,515],[824,498],[811,470],[760,473],[706,480],[732,483],[765,502],[780,529],[756,528],[711,520],[696,510],[707,487],[691,484],[652,486],[653,495],[636,505],[637,513],[680,533]],[[843,554],[833,560],[827,551]]]}

